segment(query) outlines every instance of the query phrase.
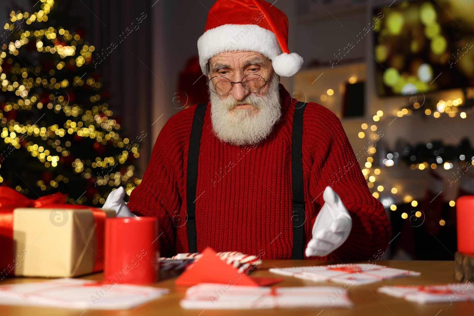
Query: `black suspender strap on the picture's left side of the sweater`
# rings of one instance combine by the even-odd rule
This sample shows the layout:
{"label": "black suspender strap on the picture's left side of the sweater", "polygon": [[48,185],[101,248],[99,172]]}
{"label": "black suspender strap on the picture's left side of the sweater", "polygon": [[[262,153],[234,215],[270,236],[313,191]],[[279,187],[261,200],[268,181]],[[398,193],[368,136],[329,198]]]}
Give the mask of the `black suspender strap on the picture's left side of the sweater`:
{"label": "black suspender strap on the picture's left side of the sweater", "polygon": [[201,145],[202,125],[207,103],[196,106],[192,119],[191,137],[189,140],[188,171],[186,176],[186,228],[188,233],[188,252],[197,253],[197,235],[195,220],[196,185],[198,182],[198,159]]}

